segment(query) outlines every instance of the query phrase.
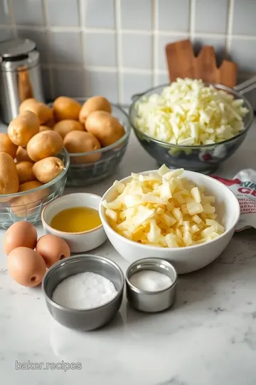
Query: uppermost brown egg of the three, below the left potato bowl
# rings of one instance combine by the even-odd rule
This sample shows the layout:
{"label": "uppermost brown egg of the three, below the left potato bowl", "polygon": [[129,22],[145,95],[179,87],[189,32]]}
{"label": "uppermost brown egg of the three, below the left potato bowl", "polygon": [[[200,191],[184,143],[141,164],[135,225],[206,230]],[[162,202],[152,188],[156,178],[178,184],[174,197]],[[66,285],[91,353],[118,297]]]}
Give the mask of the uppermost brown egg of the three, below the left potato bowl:
{"label": "uppermost brown egg of the three, below the left potato bowl", "polygon": [[21,221],[11,225],[4,235],[3,248],[6,255],[16,249],[16,247],[36,247],[38,235],[36,228],[29,222]]}

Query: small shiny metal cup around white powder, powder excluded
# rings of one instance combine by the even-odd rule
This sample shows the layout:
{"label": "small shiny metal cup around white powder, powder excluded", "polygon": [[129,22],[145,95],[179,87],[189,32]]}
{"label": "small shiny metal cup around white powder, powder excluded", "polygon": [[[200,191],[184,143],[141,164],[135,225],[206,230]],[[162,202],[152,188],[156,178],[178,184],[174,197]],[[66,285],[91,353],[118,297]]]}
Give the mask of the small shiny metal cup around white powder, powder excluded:
{"label": "small shiny metal cup around white powder, powder excluded", "polygon": [[[132,274],[142,270],[154,270],[155,272],[167,275],[171,278],[171,285],[166,289],[157,292],[147,292],[134,287],[129,279],[132,277]],[[176,297],[177,273],[174,266],[166,260],[160,260],[159,258],[145,258],[143,260],[138,260],[128,267],[125,280],[127,301],[134,307],[134,309],[141,310],[142,312],[155,313],[162,312],[174,304]]]}

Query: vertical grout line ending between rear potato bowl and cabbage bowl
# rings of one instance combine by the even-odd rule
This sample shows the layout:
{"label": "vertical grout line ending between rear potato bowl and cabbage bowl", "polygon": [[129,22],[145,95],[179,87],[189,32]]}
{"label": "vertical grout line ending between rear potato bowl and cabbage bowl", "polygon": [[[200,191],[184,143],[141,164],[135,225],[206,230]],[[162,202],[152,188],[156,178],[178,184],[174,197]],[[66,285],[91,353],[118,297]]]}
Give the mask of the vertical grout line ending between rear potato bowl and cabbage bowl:
{"label": "vertical grout line ending between rear potato bowl and cabbage bowl", "polygon": [[117,53],[117,100],[118,103],[123,101],[123,84],[122,84],[122,73],[120,68],[122,67],[122,36],[120,35],[121,30],[121,3],[120,0],[114,1],[115,10],[115,24],[116,24],[116,53]]}

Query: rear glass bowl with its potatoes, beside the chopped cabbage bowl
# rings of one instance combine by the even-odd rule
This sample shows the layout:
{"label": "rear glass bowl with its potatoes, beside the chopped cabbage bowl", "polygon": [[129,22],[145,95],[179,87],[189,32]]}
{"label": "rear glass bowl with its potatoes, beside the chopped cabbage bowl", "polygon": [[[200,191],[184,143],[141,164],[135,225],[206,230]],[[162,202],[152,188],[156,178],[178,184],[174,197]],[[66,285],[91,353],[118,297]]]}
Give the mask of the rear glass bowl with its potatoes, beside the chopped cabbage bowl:
{"label": "rear glass bowl with its potatoes, beside the chopped cabbage bowl", "polygon": [[60,96],[52,106],[52,129],[62,136],[70,155],[66,185],[92,185],[112,175],[131,133],[127,114],[103,96]]}

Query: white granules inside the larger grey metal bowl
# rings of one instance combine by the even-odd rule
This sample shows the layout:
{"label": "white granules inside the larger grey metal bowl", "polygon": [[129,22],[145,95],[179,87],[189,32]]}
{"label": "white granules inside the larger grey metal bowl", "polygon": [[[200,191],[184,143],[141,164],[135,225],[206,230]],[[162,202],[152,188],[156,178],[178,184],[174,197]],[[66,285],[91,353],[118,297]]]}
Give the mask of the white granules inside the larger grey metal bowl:
{"label": "white granules inside the larger grey metal bowl", "polygon": [[53,301],[72,309],[91,309],[117,295],[114,284],[100,274],[82,272],[64,279],[53,292]]}

